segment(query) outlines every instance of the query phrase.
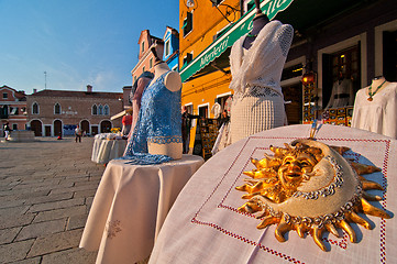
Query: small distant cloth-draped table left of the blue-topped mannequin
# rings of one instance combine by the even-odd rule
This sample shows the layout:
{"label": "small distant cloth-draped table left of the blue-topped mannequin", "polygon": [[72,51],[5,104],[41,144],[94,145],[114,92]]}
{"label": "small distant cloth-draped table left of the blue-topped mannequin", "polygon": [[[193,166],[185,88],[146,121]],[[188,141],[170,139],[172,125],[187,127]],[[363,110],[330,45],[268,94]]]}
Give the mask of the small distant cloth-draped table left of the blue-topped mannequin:
{"label": "small distant cloth-draped table left of the blue-topped mannequin", "polygon": [[124,154],[126,140],[108,140],[107,134],[98,134],[93,140],[91,161],[95,163],[106,164]]}

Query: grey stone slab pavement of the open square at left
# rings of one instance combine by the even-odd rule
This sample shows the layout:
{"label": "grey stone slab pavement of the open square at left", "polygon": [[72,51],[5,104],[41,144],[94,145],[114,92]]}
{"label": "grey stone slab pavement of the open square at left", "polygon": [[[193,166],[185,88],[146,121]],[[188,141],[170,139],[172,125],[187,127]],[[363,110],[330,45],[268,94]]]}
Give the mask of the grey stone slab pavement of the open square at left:
{"label": "grey stone slab pavement of the open square at left", "polygon": [[104,170],[92,138],[0,143],[0,263],[95,263],[79,249]]}

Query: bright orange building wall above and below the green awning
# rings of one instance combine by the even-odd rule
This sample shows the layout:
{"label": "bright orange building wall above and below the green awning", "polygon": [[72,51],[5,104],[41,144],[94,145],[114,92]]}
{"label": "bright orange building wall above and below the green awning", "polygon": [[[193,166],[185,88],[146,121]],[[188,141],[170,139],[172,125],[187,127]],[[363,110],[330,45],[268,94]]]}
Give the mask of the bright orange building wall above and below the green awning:
{"label": "bright orange building wall above and below the green awning", "polygon": [[[241,14],[239,0],[224,0],[218,6],[229,21],[212,6],[211,1],[195,2],[192,8],[187,8],[186,0],[179,1],[179,67],[183,67],[184,57],[187,53],[191,53],[192,58],[197,57],[213,42],[213,36],[230,24],[229,21],[236,22]],[[187,12],[192,12],[192,30],[184,36],[181,26]],[[225,68],[224,70],[229,69]],[[224,74],[220,70],[187,80],[183,84],[181,105],[192,105],[192,113],[198,114],[198,106],[209,103],[208,118],[213,118],[211,108],[217,96],[232,91],[229,89],[230,81],[231,74]],[[194,146],[195,134],[196,127],[190,131],[190,147]]]}

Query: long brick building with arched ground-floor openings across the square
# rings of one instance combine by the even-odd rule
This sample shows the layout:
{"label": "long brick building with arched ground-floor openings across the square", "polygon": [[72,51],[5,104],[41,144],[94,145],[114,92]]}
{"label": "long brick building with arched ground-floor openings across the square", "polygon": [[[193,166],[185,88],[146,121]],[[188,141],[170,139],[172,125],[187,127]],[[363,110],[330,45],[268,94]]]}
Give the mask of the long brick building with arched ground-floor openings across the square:
{"label": "long brick building with arched ground-floor openings across the square", "polygon": [[122,92],[42,90],[27,96],[27,127],[36,136],[73,135],[77,124],[87,134],[121,128],[110,117],[123,109]]}

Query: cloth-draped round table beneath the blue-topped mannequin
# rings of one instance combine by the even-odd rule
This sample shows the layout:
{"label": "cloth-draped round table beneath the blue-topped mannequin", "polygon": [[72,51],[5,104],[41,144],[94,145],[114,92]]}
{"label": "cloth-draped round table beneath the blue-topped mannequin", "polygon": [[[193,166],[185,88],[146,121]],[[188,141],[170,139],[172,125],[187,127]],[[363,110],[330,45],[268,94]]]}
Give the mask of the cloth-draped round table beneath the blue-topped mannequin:
{"label": "cloth-draped round table beneath the blue-topped mannequin", "polygon": [[80,248],[99,249],[97,263],[147,258],[168,210],[203,160],[184,155],[159,165],[126,163],[108,164],[81,237]]}

